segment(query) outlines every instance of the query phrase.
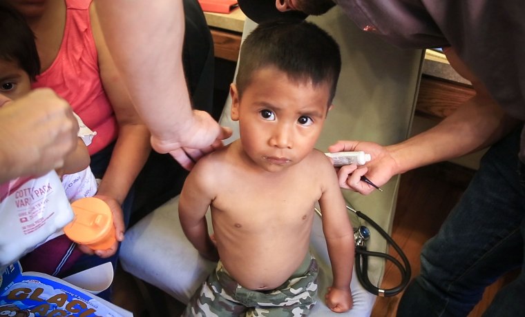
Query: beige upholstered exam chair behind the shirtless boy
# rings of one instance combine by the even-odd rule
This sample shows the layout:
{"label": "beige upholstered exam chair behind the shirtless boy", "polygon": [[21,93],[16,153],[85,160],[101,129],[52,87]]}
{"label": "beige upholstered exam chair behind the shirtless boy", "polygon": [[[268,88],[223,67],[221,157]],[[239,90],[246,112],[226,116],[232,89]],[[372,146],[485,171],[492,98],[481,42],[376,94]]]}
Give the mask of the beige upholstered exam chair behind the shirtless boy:
{"label": "beige upholstered exam chair behind the shirtless boy", "polygon": [[[384,43],[373,34],[357,29],[338,8],[322,17],[309,19],[332,34],[341,47],[343,58],[335,107],[328,115],[317,148],[325,151],[328,145],[340,139],[375,141],[383,145],[405,139],[414,114],[423,52],[399,50]],[[253,21],[246,21],[243,39],[255,26]],[[229,110],[228,99],[220,123],[233,127],[236,132],[231,138],[233,140],[238,137],[238,127],[231,121]],[[350,205],[390,232],[398,186],[399,176],[383,185],[384,192],[376,191],[369,196],[349,191],[343,193]],[[184,237],[177,206],[178,197],[175,197],[129,229],[120,258],[127,272],[187,303],[215,263],[198,256]],[[353,217],[352,221],[356,227],[357,221]],[[368,249],[386,252],[384,239],[370,229],[372,236],[367,243]],[[320,300],[312,316],[370,316],[375,296],[365,291],[356,278],[351,285],[354,309],[346,314],[335,314],[325,306],[323,298],[331,284],[332,274],[318,217],[314,221],[311,246],[321,267]],[[383,272],[382,260],[370,260],[372,283],[379,285]]]}

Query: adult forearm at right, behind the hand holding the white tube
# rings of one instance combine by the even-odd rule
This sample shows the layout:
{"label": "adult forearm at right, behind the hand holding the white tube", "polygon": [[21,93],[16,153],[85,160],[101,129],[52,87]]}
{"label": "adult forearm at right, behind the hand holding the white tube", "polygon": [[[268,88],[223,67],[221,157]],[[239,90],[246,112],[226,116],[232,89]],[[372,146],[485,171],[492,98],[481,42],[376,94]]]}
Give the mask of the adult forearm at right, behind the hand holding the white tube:
{"label": "adult forearm at right, behind the hand holding the white tube", "polygon": [[397,163],[392,174],[481,150],[516,123],[492,99],[475,96],[430,130],[386,147]]}

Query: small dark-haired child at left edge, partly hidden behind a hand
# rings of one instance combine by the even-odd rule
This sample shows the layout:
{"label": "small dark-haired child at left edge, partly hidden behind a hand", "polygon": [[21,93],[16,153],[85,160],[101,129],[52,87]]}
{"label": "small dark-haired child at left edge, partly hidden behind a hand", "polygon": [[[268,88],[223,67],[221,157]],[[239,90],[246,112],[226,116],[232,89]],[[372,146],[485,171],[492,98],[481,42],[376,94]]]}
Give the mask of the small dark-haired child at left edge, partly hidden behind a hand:
{"label": "small dark-haired child at left edge, partly hidden behind a hand", "polygon": [[[15,100],[31,90],[31,81],[40,72],[40,61],[33,33],[26,20],[7,3],[0,3],[0,28],[5,34],[0,37],[0,94],[4,99]],[[38,105],[35,105],[38,107]],[[76,115],[75,115],[76,116]],[[90,170],[90,156],[87,145],[95,135],[79,121],[79,139],[77,149],[64,160],[64,166],[57,170],[62,185],[70,202],[79,198],[95,195],[97,183]],[[41,137],[41,136],[35,136]],[[0,196],[5,196],[8,187],[16,186],[12,180],[0,184]],[[73,265],[82,255],[75,243],[64,235],[53,235],[48,241],[33,250],[20,262],[25,271],[36,271],[59,276]]]}

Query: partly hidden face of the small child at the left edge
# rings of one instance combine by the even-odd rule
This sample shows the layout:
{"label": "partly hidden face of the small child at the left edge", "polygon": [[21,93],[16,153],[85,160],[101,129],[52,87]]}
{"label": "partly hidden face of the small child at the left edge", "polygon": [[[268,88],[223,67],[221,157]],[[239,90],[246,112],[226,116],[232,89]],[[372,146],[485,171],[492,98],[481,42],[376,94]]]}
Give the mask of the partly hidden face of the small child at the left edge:
{"label": "partly hidden face of the small child at the left edge", "polygon": [[[1,100],[15,100],[31,90],[28,73],[19,68],[17,63],[0,60],[0,95]],[[2,103],[3,103],[2,102]]]}

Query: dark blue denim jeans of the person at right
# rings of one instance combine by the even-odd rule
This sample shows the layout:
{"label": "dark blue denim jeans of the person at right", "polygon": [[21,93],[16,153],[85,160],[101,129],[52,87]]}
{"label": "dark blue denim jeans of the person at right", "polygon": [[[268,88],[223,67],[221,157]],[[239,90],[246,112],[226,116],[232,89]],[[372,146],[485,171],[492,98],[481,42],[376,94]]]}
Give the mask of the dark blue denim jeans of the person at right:
{"label": "dark blue denim jeans of the person at right", "polygon": [[520,130],[488,150],[439,233],[423,246],[421,275],[405,290],[397,316],[467,316],[485,287],[517,267],[522,273],[499,291],[484,316],[523,316],[525,175],[520,171],[525,169],[517,157]]}

